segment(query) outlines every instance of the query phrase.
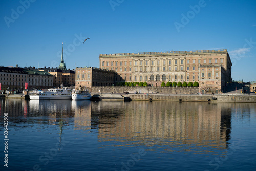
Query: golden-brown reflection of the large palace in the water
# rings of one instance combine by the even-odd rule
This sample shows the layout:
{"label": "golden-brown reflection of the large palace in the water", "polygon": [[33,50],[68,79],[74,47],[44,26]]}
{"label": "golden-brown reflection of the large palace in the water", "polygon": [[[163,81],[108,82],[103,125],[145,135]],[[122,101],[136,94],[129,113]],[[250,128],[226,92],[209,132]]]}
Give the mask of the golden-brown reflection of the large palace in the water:
{"label": "golden-brown reflection of the large palace in the water", "polygon": [[226,103],[100,101],[92,102],[92,125],[98,125],[99,141],[224,149],[230,139],[231,108]]}

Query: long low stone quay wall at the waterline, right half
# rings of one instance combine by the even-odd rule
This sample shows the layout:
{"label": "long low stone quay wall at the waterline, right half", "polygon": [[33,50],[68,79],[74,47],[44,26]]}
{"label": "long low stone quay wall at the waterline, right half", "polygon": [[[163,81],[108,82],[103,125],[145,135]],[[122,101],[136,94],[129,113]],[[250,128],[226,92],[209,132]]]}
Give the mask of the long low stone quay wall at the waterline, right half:
{"label": "long low stone quay wall at the waterline, right half", "polygon": [[[161,95],[130,94],[131,100],[152,101],[197,101],[197,102],[251,102],[256,103],[256,95]],[[181,99],[181,100],[180,100]]]}

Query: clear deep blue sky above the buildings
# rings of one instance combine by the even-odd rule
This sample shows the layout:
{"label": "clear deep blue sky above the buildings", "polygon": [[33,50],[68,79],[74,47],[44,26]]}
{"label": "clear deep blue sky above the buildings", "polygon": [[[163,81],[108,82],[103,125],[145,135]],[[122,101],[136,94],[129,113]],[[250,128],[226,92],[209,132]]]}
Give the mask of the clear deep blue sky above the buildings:
{"label": "clear deep blue sky above the buildings", "polygon": [[[0,66],[99,67],[108,53],[227,49],[256,81],[256,1],[0,1]],[[83,44],[85,38],[86,40]]]}

